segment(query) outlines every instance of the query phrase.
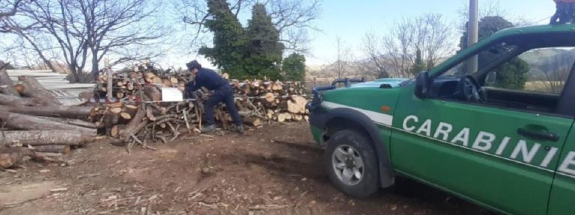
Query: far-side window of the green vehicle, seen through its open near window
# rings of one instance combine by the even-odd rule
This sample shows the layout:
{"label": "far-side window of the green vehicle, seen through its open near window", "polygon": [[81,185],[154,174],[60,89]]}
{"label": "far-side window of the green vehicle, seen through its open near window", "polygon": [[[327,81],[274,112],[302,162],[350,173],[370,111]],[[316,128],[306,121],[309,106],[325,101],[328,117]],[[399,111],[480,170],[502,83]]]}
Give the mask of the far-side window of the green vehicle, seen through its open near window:
{"label": "far-side window of the green vehicle, seen through its open near window", "polygon": [[486,85],[561,94],[575,61],[575,48],[528,50],[489,72]]}

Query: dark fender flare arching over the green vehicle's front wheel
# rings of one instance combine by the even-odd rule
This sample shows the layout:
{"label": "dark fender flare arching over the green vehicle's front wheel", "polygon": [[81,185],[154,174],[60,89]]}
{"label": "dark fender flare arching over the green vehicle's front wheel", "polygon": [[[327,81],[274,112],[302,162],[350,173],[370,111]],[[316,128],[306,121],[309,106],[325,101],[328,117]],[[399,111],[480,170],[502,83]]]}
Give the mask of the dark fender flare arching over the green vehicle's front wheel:
{"label": "dark fender flare arching over the green vehicle's front wheel", "polygon": [[373,140],[375,151],[377,153],[380,178],[379,182],[381,183],[382,187],[389,187],[393,185],[395,182],[395,174],[393,171],[390,154],[386,148],[386,144],[389,144],[389,142],[385,142],[384,139],[381,138],[377,125],[375,125],[375,123],[369,117],[359,111],[352,110],[350,108],[335,108],[328,111],[327,118],[325,118],[322,128],[325,128],[329,121],[334,118],[344,118],[354,121],[355,123],[361,125],[365,131],[367,131],[371,140]]}

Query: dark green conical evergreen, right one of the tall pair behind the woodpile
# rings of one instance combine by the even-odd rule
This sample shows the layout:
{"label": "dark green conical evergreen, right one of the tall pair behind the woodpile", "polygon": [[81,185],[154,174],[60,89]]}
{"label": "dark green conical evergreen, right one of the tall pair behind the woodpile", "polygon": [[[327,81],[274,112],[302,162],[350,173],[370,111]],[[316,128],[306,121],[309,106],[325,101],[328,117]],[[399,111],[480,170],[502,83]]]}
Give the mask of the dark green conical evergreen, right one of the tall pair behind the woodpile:
{"label": "dark green conical evergreen, right one of the tall pair behind the woodpile", "polygon": [[252,19],[248,21],[244,66],[247,78],[271,80],[281,79],[280,64],[283,44],[279,42],[279,32],[271,22],[266,7],[257,3],[252,10]]}

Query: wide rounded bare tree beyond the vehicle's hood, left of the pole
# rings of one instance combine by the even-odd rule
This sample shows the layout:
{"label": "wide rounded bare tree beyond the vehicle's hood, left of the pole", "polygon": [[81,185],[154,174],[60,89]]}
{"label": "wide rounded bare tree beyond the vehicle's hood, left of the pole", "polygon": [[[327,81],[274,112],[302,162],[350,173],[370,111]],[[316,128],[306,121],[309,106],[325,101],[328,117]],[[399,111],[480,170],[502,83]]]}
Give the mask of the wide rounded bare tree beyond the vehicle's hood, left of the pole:
{"label": "wide rounded bare tree beyond the vehicle's hood, left of the pole", "polygon": [[430,69],[453,53],[452,39],[453,29],[442,15],[424,14],[395,22],[385,36],[367,33],[362,49],[378,77],[412,77],[418,49]]}

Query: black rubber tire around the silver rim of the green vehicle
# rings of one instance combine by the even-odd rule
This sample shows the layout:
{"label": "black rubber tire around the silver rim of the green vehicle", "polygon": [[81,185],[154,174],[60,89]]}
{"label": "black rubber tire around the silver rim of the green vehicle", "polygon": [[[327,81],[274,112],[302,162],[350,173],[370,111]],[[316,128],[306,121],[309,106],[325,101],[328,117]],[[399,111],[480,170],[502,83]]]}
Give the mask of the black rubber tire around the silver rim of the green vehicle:
{"label": "black rubber tire around the silver rim of the green vehicle", "polygon": [[[338,158],[334,157],[336,156],[334,155],[335,150],[342,149],[343,151],[346,151],[346,147],[352,147],[355,151],[355,153],[353,153],[354,156],[357,157],[359,155],[363,162],[363,167],[361,168],[363,169],[363,171],[361,171],[363,174],[361,175],[361,179],[358,179],[355,183],[351,182],[352,180],[347,183],[343,181],[343,173],[341,173],[343,168],[338,168],[335,165],[339,161]],[[371,145],[369,137],[362,132],[355,130],[341,130],[333,134],[331,138],[329,138],[327,148],[325,149],[324,162],[325,168],[328,171],[329,180],[347,196],[353,198],[366,198],[379,190],[379,167],[377,163],[377,154]],[[351,171],[354,173],[355,169],[353,168],[348,168],[347,172],[350,173],[349,169],[352,169]],[[338,173],[338,171],[340,171],[340,173]],[[356,178],[355,173],[353,178]]]}

